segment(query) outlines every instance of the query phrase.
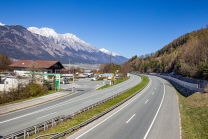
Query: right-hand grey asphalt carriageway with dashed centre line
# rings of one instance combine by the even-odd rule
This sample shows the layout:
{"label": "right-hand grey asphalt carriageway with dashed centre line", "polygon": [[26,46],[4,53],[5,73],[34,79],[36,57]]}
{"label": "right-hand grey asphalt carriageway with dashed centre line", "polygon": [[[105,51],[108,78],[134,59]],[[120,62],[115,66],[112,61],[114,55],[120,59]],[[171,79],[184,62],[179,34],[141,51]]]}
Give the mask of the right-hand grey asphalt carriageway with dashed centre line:
{"label": "right-hand grey asphalt carriageway with dashed centre line", "polygon": [[164,79],[149,78],[138,95],[67,139],[180,139],[175,89]]}

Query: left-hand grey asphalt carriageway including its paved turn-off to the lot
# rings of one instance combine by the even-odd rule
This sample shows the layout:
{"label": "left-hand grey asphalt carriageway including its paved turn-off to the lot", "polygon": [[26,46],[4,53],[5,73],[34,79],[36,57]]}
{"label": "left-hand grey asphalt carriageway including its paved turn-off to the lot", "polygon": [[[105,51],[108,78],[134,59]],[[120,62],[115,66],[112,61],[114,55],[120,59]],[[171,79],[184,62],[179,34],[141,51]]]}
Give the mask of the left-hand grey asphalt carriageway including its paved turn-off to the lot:
{"label": "left-hand grey asphalt carriageway including its paved turn-off to the lot", "polygon": [[86,106],[132,88],[141,82],[141,78],[131,75],[129,80],[102,90],[95,90],[102,82],[91,82],[94,84],[89,82],[81,82],[76,86],[78,91],[65,98],[1,115],[0,135],[8,135],[60,115],[72,114]]}

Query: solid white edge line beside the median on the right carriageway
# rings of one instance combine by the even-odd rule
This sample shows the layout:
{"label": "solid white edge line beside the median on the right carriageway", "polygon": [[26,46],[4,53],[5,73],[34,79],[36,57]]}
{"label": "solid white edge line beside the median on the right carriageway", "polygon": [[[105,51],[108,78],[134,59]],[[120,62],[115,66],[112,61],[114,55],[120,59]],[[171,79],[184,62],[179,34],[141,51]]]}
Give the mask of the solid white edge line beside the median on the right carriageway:
{"label": "solid white edge line beside the median on the right carriageway", "polygon": [[78,137],[76,137],[75,139],[79,139],[82,136],[84,136],[85,134],[87,134],[88,132],[90,132],[91,130],[93,130],[94,128],[96,128],[97,126],[99,126],[100,124],[102,124],[103,122],[105,122],[106,120],[108,120],[109,118],[111,118],[112,116],[114,116],[115,114],[117,114],[119,111],[121,111],[122,109],[124,109],[126,106],[128,106],[129,104],[131,104],[134,100],[136,100],[138,97],[140,97],[145,90],[147,90],[147,88],[150,86],[151,84],[151,79],[150,79],[150,83],[147,85],[147,87],[141,91],[141,93],[138,94],[138,96],[135,96],[135,98],[133,98],[130,102],[128,102],[126,105],[124,105],[123,107],[121,107],[119,110],[117,110],[116,112],[114,112],[113,114],[111,114],[110,116],[108,116],[106,119],[104,119],[103,121],[101,121],[100,123],[96,124],[95,126],[93,126],[92,128],[90,128],[89,130],[85,131],[84,133],[82,133],[81,135],[79,135]]}

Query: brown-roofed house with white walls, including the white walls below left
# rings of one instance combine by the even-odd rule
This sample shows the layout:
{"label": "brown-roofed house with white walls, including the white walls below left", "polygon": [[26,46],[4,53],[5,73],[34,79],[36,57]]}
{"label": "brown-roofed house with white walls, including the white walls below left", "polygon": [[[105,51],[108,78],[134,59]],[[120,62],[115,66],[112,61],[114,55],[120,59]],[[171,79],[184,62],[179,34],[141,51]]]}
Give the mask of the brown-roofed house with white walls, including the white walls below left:
{"label": "brown-roofed house with white walls, including the white walls below left", "polygon": [[61,69],[64,69],[63,65],[59,61],[51,60],[19,60],[9,66],[13,67],[14,72],[8,75],[5,74],[1,77],[0,92],[16,88],[18,83],[28,84],[29,80],[27,78],[20,79],[17,76],[27,77],[29,74],[25,73],[30,72],[32,68],[36,68],[39,73],[44,74],[44,76],[40,76],[40,82],[43,78],[48,79],[49,74],[60,74]]}

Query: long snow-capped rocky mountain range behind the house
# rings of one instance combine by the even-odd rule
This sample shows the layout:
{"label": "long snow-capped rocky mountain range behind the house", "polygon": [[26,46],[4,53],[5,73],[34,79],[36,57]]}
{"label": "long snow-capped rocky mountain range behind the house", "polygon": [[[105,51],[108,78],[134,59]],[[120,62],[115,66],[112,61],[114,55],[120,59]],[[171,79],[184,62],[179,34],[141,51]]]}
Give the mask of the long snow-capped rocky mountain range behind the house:
{"label": "long snow-capped rocky mountain range behind the house", "polygon": [[[109,63],[109,52],[97,49],[73,34],[58,34],[50,28],[4,25],[0,23],[0,52],[13,59],[59,60],[68,63]],[[112,62],[128,59],[112,53]]]}

